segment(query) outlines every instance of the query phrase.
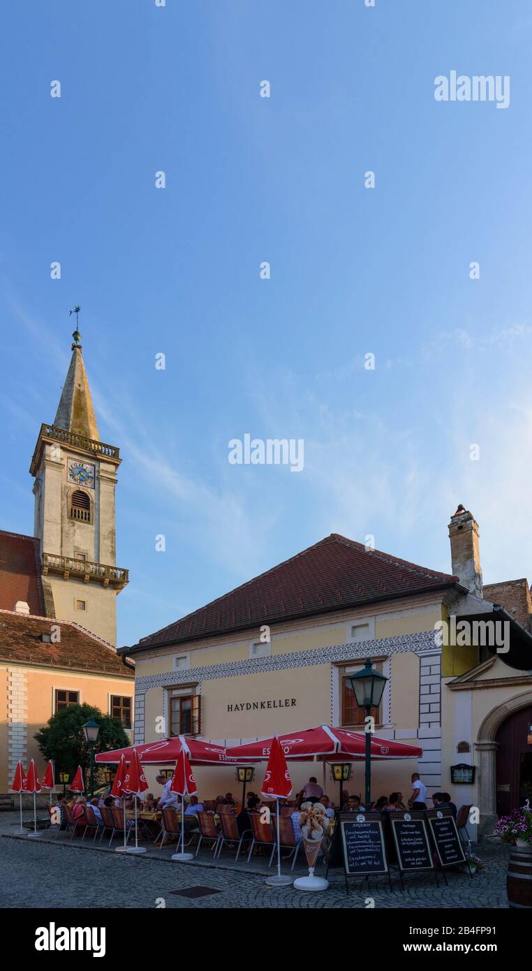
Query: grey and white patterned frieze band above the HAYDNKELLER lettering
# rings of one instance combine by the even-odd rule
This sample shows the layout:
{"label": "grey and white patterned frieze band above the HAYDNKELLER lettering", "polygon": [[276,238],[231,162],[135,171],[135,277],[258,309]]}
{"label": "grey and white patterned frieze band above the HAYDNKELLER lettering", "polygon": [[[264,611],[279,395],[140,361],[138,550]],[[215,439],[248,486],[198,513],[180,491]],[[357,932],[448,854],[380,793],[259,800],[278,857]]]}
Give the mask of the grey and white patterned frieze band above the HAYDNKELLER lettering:
{"label": "grey and white patterned frieze band above the HAYDNKELLER lettering", "polygon": [[178,686],[180,682],[186,684],[190,681],[216,681],[220,678],[238,678],[247,674],[266,674],[269,671],[285,671],[292,668],[312,667],[316,664],[331,664],[335,661],[407,652],[435,653],[434,631],[403,634],[400,637],[384,637],[378,641],[343,644],[332,648],[317,648],[315,651],[294,651],[274,654],[270,657],[253,657],[249,660],[229,661],[225,664],[213,664],[183,671],[166,671],[136,678],[135,687],[137,691],[148,691],[150,687]]}

